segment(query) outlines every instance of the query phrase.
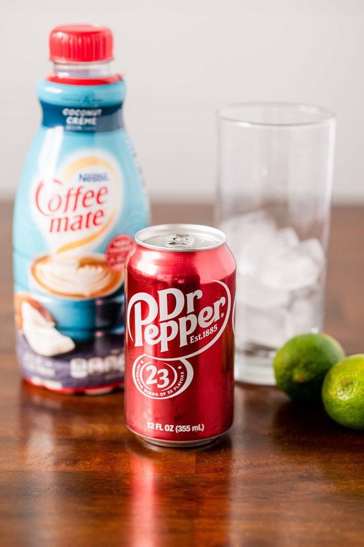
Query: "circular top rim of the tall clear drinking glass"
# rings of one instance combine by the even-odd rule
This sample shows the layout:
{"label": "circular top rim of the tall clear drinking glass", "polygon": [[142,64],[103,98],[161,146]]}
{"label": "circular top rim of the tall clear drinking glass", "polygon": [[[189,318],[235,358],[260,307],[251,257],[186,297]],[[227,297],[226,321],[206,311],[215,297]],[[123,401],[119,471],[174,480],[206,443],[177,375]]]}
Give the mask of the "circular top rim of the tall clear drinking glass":
{"label": "circular top rim of the tall clear drinking glass", "polygon": [[[311,114],[313,119],[308,121],[291,121],[291,122],[267,122],[267,121],[251,121],[244,118],[239,119],[233,114],[228,114],[229,110],[238,110],[242,108],[281,108],[287,110],[295,110],[296,112],[302,112],[305,114]],[[288,102],[288,101],[246,101],[240,103],[227,104],[216,110],[216,115],[221,121],[228,121],[235,125],[242,125],[244,127],[299,127],[308,125],[321,125],[328,121],[336,120],[336,114],[327,108],[315,106],[314,104]],[[314,119],[314,115],[319,115],[320,118]],[[249,118],[249,117],[248,117]]]}

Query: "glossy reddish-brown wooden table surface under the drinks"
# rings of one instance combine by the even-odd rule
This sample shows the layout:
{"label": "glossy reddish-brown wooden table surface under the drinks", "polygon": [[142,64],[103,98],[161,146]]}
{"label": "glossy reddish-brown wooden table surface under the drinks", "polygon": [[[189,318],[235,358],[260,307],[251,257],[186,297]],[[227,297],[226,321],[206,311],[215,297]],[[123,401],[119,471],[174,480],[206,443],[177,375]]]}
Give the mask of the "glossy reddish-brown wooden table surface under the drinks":
{"label": "glossy reddish-brown wooden table surface under the drinks", "polygon": [[[154,207],[211,223],[211,207]],[[333,211],[326,332],[364,351],[364,209]],[[125,428],[123,392],[57,395],[14,355],[11,207],[0,204],[1,547],[364,545],[364,434],[273,387],[237,385],[230,432],[162,449]]]}

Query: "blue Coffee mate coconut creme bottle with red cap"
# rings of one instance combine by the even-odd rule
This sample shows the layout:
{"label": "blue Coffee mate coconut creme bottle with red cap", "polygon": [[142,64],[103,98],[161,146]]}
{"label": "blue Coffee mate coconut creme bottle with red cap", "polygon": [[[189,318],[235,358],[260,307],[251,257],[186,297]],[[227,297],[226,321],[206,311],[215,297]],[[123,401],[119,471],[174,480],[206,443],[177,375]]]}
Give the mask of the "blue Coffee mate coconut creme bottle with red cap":
{"label": "blue Coffee mate coconut creme bottle with red cap", "polygon": [[28,382],[102,393],[124,380],[124,262],[148,206],[111,31],[56,27],[50,59],[15,203],[17,353]]}

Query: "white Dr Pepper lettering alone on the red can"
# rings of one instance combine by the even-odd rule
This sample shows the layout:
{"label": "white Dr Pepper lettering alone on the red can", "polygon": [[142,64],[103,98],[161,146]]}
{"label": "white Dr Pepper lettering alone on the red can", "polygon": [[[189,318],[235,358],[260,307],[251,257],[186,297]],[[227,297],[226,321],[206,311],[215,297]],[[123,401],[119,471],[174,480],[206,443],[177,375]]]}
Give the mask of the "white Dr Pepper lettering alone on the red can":
{"label": "white Dr Pepper lettering alone on the red can", "polygon": [[[169,298],[169,295],[172,298]],[[169,349],[169,342],[172,340],[176,340],[179,347],[201,340],[203,335],[196,336],[195,331],[210,329],[211,325],[223,318],[226,315],[224,306],[227,303],[226,297],[221,296],[197,313],[195,305],[202,297],[203,292],[200,289],[185,295],[182,290],[175,288],[158,290],[158,301],[148,293],[137,293],[132,296],[128,305],[128,330],[134,345],[160,344],[160,351],[165,352]],[[171,300],[173,300],[172,305]],[[145,310],[146,307],[147,313],[144,314],[145,317],[142,317],[142,308]],[[183,309],[186,309],[186,315],[181,316]],[[132,311],[134,311],[134,322],[131,331]],[[212,328],[211,334],[217,330]]]}

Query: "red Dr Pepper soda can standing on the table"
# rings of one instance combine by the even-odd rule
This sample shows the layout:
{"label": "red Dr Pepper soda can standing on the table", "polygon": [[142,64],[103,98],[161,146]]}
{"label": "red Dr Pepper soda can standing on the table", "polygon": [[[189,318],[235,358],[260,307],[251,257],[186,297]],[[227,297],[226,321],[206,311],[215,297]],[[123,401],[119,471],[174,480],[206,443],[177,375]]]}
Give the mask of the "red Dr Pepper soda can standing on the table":
{"label": "red Dr Pepper soda can standing on the table", "polygon": [[197,446],[233,421],[235,260],[222,231],[139,231],[125,271],[126,426],[149,443]]}

